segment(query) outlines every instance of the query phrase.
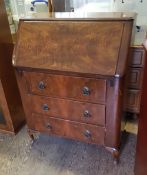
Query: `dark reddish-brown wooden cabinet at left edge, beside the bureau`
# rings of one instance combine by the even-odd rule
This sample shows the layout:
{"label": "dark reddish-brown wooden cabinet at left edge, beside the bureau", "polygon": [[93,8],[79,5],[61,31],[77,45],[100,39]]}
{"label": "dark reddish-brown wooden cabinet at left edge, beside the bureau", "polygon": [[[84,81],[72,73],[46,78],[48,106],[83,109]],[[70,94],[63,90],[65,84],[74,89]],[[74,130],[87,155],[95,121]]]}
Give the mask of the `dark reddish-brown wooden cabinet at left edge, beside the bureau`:
{"label": "dark reddish-brown wooden cabinet at left edge, beside the bureau", "polygon": [[0,0],[0,101],[6,124],[0,131],[15,132],[24,123],[24,112],[17,87],[12,53],[14,44],[8,23],[4,0]]}

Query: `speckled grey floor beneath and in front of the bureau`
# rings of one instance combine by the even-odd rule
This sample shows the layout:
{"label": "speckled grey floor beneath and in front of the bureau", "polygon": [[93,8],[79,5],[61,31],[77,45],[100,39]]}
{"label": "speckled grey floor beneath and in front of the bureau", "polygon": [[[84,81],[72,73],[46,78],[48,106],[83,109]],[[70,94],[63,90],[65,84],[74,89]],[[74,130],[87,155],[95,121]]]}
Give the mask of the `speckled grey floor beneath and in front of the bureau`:
{"label": "speckled grey floor beneath and in front of the bureau", "polygon": [[0,135],[0,175],[133,175],[136,135],[123,137],[120,164],[102,146],[41,134],[31,146],[26,127]]}

